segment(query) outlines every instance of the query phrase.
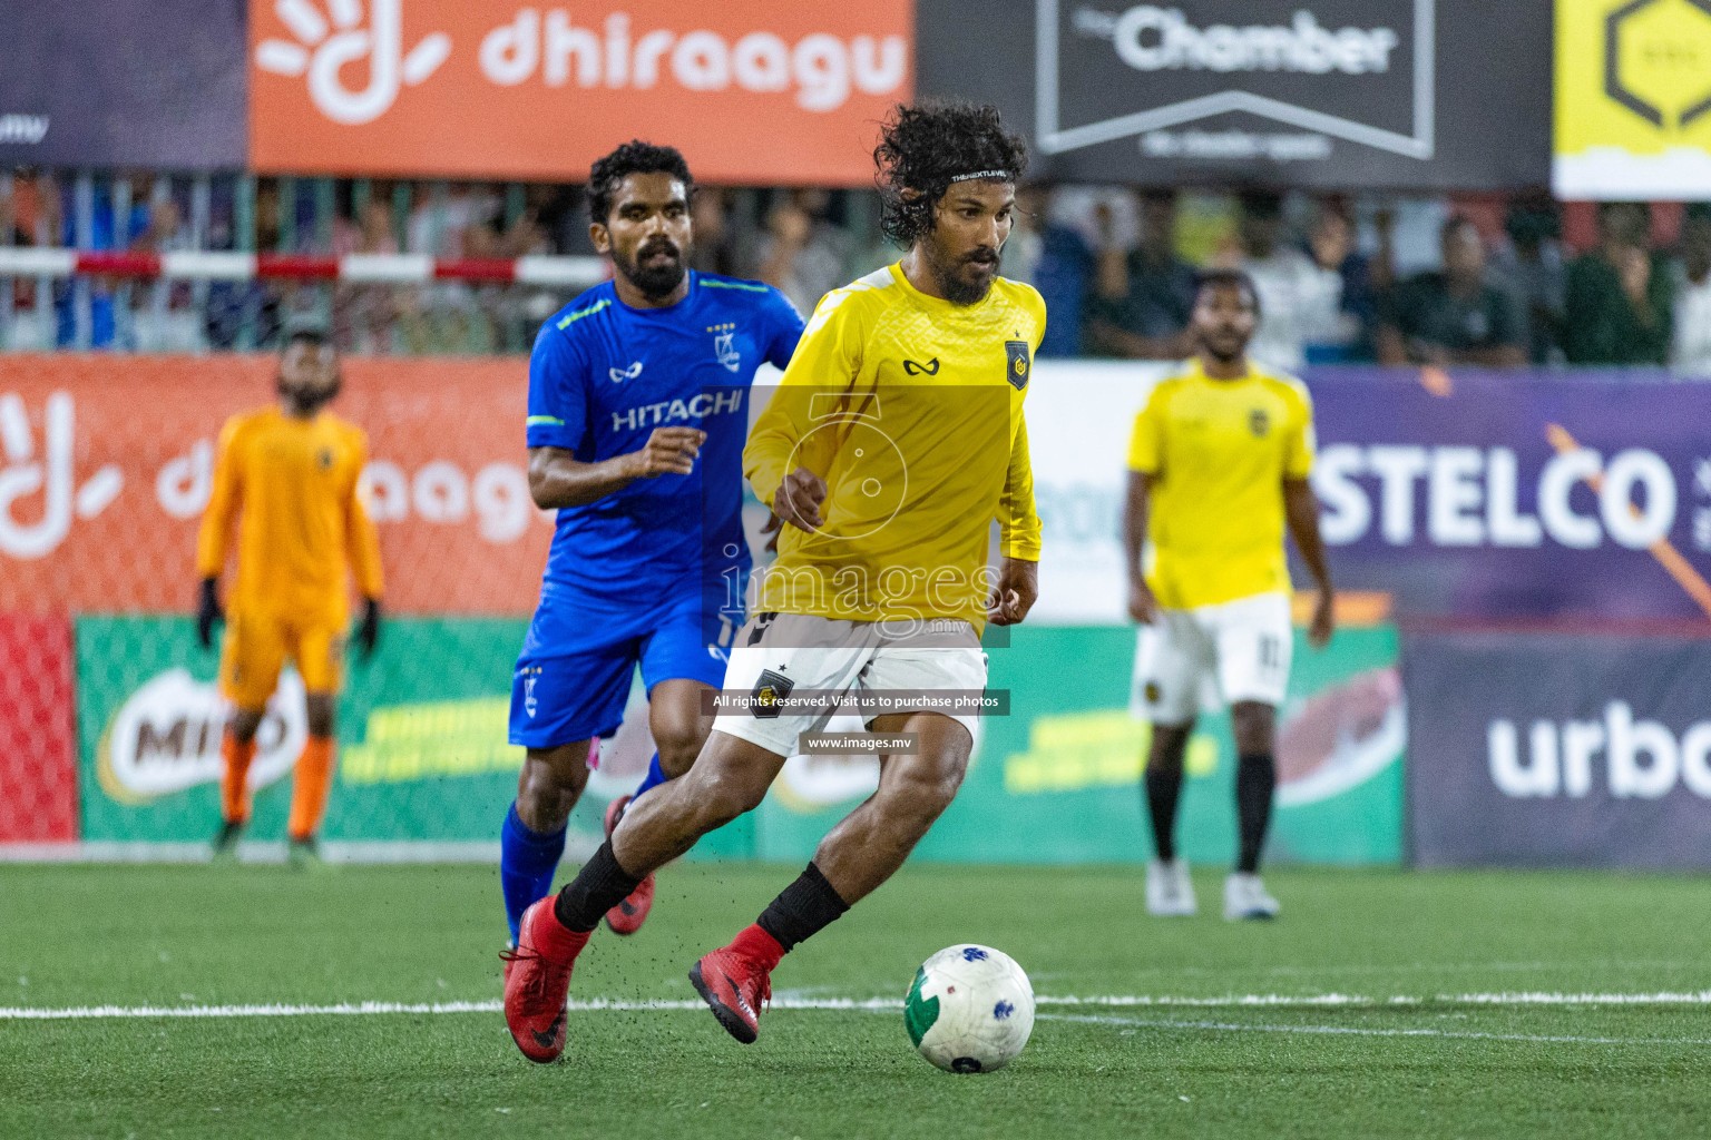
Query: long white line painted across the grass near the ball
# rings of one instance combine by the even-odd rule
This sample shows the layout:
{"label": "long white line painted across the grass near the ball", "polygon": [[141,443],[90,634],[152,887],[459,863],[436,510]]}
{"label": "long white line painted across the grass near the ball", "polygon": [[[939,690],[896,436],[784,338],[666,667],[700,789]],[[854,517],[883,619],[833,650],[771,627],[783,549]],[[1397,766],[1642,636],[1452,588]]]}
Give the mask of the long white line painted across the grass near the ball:
{"label": "long white line painted across the grass near the ball", "polygon": [[[1095,996],[1052,996],[1035,998],[1042,1007],[1095,1007],[1095,1008],[1347,1008],[1347,1007],[1427,1007],[1427,1005],[1711,1005],[1711,990],[1690,993],[1461,993],[1461,995],[1393,995],[1364,996],[1357,993],[1232,993],[1225,996],[1170,996],[1170,995],[1095,995]],[[568,1007],[573,1014],[618,1010],[700,1010],[698,1000],[623,1000],[623,998],[585,998],[571,1000]],[[772,1002],[777,1010],[862,1010],[886,1012],[900,1010],[903,1003],[895,998],[789,998],[780,996]],[[86,1020],[86,1019],[137,1019],[137,1017],[352,1017],[378,1014],[498,1014],[503,1003],[486,1002],[337,1002],[330,1005],[296,1005],[296,1003],[253,1003],[253,1005],[77,1005],[62,1008],[0,1007],[0,1020]],[[1069,1019],[1068,1014],[1052,1015]],[[1121,1019],[1119,1019],[1121,1020]],[[1167,1022],[1136,1022],[1167,1024]],[[1189,1022],[1184,1022],[1189,1025]],[[1259,1029],[1258,1025],[1235,1025],[1237,1029]],[[1280,1029],[1282,1032],[1282,1029]],[[1290,1029],[1294,1032],[1294,1029]],[[1302,1027],[1300,1032],[1357,1032],[1341,1027]],[[1374,1034],[1408,1036],[1415,1031],[1359,1031]],[[1427,1036],[1454,1036],[1437,1031],[1418,1031]],[[1463,1034],[1470,1036],[1470,1034]],[[1490,1036],[1490,1034],[1471,1034]],[[1518,1036],[1518,1041],[1531,1037]],[[1552,1037],[1540,1037],[1547,1041]],[[1581,1037],[1574,1037],[1581,1041]]]}

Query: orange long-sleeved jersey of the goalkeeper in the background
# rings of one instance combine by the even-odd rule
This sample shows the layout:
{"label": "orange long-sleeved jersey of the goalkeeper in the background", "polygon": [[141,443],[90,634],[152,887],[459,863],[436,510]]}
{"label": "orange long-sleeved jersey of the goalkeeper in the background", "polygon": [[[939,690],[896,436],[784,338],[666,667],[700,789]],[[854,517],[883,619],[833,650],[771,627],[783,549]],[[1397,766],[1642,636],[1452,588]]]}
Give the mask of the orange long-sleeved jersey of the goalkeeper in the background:
{"label": "orange long-sleeved jersey of the goalkeeper in the background", "polygon": [[363,431],[329,412],[305,420],[263,408],[226,420],[197,537],[197,574],[221,574],[238,516],[229,605],[342,627],[346,567],[363,596],[378,598],[382,586],[380,542],[356,492],[366,460]]}

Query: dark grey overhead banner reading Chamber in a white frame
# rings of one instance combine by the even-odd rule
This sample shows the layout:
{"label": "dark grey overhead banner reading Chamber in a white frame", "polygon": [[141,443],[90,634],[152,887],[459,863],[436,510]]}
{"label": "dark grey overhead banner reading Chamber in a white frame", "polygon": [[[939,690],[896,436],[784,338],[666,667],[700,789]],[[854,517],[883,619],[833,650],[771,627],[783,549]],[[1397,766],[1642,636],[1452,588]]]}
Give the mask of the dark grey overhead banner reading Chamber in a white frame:
{"label": "dark grey overhead banner reading Chamber in a white frame", "polygon": [[[1550,0],[924,5],[927,94],[996,103],[1064,179],[1543,183]],[[968,36],[970,24],[1006,36]]]}

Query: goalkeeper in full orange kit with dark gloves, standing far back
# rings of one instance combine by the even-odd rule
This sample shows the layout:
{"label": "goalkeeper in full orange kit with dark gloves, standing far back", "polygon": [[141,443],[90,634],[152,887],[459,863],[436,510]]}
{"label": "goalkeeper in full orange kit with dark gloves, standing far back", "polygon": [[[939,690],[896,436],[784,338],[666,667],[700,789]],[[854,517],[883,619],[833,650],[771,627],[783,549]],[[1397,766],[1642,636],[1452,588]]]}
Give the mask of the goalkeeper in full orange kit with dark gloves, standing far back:
{"label": "goalkeeper in full orange kit with dark gloves, standing far back", "polygon": [[339,359],[315,332],[298,332],[279,359],[279,405],[226,422],[214,460],[214,494],[197,537],[202,598],[197,636],[212,644],[221,620],[217,583],[233,520],[238,574],[221,651],[221,690],[234,706],[221,742],[221,817],[216,856],[250,820],[245,779],[255,733],[286,660],[308,690],[310,738],[291,786],[289,856],[313,860],[334,769],[334,706],[339,697],[349,586],[364,598],[358,643],[373,653],[380,632],[380,544],[358,497],[368,460],[361,429],[325,412],[339,395]]}

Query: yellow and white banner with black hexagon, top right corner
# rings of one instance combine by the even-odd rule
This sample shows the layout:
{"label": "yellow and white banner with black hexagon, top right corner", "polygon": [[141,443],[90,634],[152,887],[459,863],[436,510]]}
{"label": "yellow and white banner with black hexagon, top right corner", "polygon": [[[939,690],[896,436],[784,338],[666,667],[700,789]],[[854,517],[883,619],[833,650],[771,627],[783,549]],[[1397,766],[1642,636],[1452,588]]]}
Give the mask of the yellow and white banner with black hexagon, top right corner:
{"label": "yellow and white banner with black hexagon, top right corner", "polygon": [[1711,7],[1557,0],[1564,198],[1711,198]]}

